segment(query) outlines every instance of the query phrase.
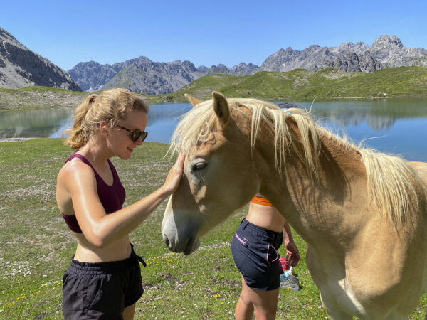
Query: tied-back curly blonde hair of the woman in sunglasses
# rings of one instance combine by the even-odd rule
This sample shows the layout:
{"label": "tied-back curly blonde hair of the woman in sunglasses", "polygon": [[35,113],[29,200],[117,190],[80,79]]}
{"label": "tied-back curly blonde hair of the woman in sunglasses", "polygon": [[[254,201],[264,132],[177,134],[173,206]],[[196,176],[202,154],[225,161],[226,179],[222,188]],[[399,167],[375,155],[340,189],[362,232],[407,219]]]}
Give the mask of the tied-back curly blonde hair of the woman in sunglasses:
{"label": "tied-back curly blonde hair of the woman in sunglasses", "polygon": [[110,89],[93,94],[75,108],[74,124],[66,129],[62,137],[68,134],[64,144],[73,150],[84,146],[95,133],[97,125],[106,121],[114,127],[119,120],[124,119],[129,111],[142,111],[148,113],[149,107],[141,97],[126,89]]}

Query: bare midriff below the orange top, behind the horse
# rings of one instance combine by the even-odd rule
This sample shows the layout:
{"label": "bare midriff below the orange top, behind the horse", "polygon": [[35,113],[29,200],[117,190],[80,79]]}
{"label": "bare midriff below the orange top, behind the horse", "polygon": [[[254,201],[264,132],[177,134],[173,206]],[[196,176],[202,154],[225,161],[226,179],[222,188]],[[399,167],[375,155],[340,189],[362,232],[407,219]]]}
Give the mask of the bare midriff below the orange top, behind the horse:
{"label": "bare midriff below the orange top, behind the horse", "polygon": [[283,218],[283,215],[281,215],[276,208],[253,202],[249,204],[246,220],[261,228],[278,233],[283,231],[283,225],[285,225],[286,222],[286,219]]}

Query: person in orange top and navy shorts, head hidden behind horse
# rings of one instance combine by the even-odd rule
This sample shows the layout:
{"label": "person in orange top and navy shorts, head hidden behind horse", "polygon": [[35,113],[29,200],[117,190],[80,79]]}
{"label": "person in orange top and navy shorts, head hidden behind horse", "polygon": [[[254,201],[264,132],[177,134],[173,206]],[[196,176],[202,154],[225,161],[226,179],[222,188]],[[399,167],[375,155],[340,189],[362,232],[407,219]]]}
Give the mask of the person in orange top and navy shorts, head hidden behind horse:
{"label": "person in orange top and navy shorts, head hidden behind horse", "polygon": [[287,263],[301,260],[288,222],[263,196],[256,195],[248,214],[231,241],[234,262],[242,274],[242,292],[236,304],[238,320],[275,319],[280,289],[280,255],[285,241]]}

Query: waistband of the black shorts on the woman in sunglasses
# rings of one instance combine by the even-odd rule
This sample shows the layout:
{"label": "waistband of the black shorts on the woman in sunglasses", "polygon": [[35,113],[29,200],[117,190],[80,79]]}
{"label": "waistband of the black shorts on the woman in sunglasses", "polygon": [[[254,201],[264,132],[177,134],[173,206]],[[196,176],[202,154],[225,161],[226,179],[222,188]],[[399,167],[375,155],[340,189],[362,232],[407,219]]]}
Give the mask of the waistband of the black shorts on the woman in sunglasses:
{"label": "waistband of the black shorts on the woman in sunglasses", "polygon": [[123,270],[125,267],[130,267],[135,260],[138,260],[142,263],[142,265],[147,266],[147,264],[142,260],[142,257],[139,257],[133,249],[133,245],[131,244],[131,254],[125,260],[119,261],[109,261],[109,262],[80,262],[78,260],[74,260],[74,255],[71,257],[71,264],[68,267],[69,270],[78,272],[79,274],[105,274],[105,273],[113,273]]}

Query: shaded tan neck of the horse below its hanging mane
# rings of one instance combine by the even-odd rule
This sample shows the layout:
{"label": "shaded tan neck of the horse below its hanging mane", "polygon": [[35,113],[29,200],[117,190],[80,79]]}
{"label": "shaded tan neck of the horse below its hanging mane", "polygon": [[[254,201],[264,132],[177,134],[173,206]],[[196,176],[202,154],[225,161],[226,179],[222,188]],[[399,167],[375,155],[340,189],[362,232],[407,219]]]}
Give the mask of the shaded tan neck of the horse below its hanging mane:
{"label": "shaded tan neck of the horse below its hanging mane", "polygon": [[[278,170],[274,165],[273,137],[265,137],[270,138],[263,139],[255,147],[260,193],[309,243],[315,237],[333,235],[337,225],[346,225],[342,210],[354,201],[350,200],[350,189],[352,198],[359,199],[364,195],[356,194],[358,191],[354,191],[354,186],[360,186],[359,192],[364,191],[366,186],[364,166],[358,151],[329,134],[320,133],[316,179],[310,175],[304,161],[292,153],[292,149],[285,156],[282,170]],[[296,148],[301,149],[302,146],[297,143]],[[354,225],[357,225],[357,221]],[[352,225],[349,228],[352,229]]]}

